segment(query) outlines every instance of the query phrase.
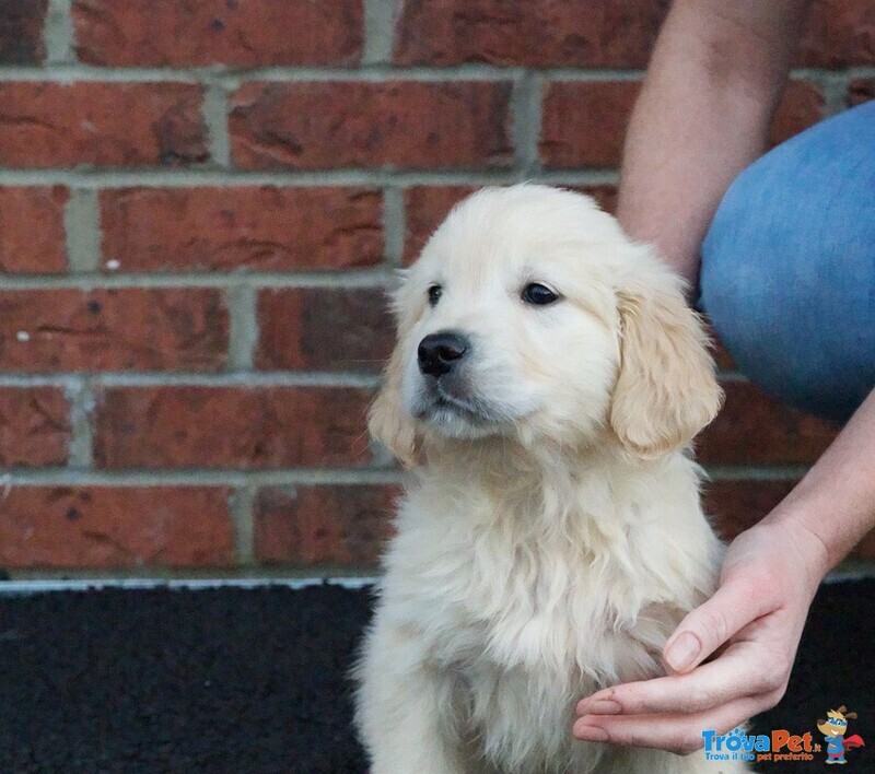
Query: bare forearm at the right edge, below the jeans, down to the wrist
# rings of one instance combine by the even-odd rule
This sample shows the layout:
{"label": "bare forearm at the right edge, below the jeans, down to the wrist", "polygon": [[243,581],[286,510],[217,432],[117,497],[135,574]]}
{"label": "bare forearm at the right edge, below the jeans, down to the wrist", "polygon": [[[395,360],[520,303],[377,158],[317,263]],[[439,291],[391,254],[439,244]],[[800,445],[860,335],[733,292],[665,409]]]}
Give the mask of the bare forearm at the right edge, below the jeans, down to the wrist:
{"label": "bare forearm at the right edge, below the jeans, down to the wrist", "polygon": [[797,535],[820,577],[875,528],[875,390],[762,524]]}

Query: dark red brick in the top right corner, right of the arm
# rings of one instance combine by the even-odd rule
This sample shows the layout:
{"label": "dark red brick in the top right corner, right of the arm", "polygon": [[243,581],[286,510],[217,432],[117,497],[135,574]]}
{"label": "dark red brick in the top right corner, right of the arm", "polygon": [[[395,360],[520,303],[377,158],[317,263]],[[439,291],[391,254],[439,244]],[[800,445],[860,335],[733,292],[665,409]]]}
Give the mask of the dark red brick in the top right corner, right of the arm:
{"label": "dark red brick in the top right corner, right of the arm", "polygon": [[871,0],[815,0],[796,64],[840,70],[875,64],[875,5]]}

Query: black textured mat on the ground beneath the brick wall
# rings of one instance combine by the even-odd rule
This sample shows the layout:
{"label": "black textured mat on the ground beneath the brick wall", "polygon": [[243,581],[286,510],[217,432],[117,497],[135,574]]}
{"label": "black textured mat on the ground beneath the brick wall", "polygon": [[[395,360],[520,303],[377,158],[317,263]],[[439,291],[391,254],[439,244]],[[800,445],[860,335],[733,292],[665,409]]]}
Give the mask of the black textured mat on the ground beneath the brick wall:
{"label": "black textured mat on the ground beneath the brick wall", "polygon": [[[370,602],[337,586],[0,597],[0,772],[364,772],[346,675]],[[820,741],[844,704],[867,744],[847,771],[875,772],[873,649],[875,580],[825,586],[754,732]]]}

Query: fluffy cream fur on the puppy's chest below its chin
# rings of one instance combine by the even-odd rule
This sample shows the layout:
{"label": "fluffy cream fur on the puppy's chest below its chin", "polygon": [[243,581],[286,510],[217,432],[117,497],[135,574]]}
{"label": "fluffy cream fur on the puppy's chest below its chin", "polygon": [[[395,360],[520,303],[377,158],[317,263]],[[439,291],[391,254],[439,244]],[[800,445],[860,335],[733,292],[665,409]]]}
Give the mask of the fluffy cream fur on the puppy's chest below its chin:
{"label": "fluffy cream fur on the puppy's chest below its chin", "polygon": [[665,640],[713,590],[721,548],[693,464],[635,465],[622,480],[616,464],[427,471],[400,504],[377,614],[417,638],[456,730],[502,770],[572,755],[574,702],[658,673]]}

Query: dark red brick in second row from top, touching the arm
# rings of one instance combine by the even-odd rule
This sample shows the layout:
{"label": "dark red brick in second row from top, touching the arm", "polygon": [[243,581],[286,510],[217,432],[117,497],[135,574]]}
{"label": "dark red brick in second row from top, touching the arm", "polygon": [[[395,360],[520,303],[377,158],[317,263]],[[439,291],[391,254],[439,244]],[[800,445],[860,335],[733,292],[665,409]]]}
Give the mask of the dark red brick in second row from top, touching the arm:
{"label": "dark red brick in second row from top, touching the arm", "polygon": [[639,89],[635,81],[547,84],[538,143],[544,164],[551,168],[618,165]]}

